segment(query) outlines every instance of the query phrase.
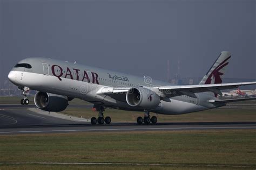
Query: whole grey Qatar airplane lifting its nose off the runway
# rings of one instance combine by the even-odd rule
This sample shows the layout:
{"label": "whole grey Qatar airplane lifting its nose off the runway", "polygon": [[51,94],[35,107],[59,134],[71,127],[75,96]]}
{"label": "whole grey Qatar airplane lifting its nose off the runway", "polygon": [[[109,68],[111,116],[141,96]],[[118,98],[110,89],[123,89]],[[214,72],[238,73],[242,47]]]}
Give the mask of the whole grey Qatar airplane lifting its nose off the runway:
{"label": "whole grey Qatar airplane lifting its nose off the runway", "polygon": [[186,86],[49,58],[21,60],[8,78],[23,91],[21,104],[29,104],[26,93],[32,89],[37,91],[36,107],[45,111],[63,111],[69,101],[79,98],[93,103],[98,111],[98,117],[91,118],[93,125],[111,123],[111,117],[104,117],[105,108],[143,111],[144,117],[139,116],[137,123],[148,125],[157,123],[157,117],[150,117],[150,112],[179,115],[219,108],[228,102],[255,100],[256,97],[217,98],[222,95],[220,90],[256,84],[256,81],[223,83],[230,58],[230,52],[221,52],[199,84]]}

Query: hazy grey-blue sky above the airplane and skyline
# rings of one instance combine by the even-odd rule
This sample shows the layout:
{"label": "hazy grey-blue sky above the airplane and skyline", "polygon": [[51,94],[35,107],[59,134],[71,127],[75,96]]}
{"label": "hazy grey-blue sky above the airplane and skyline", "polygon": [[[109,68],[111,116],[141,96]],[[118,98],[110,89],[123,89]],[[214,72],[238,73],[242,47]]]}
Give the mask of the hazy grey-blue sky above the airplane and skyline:
{"label": "hazy grey-blue sky above the airplane and skyline", "polygon": [[1,80],[45,56],[166,80],[203,77],[231,51],[226,77],[256,79],[256,1],[0,0]]}

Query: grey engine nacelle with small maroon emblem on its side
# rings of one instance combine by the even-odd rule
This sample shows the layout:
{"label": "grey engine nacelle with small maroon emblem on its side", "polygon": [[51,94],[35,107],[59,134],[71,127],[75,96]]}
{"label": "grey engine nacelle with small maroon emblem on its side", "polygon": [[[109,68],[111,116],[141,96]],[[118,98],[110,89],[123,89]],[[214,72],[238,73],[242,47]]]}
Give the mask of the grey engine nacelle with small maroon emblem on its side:
{"label": "grey engine nacelle with small maroon emblem on its side", "polygon": [[159,105],[160,97],[150,89],[133,87],[127,91],[126,102],[132,107],[151,110]]}

